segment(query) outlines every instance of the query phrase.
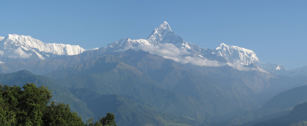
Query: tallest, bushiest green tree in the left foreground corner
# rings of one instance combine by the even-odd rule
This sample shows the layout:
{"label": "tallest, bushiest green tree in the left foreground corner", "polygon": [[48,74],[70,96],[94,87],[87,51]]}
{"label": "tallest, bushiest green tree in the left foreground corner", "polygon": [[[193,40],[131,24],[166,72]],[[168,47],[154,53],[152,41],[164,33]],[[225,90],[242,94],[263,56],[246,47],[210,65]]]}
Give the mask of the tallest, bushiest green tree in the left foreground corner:
{"label": "tallest, bushiest green tree in the left foreground corner", "polygon": [[[14,120],[12,125],[41,125],[43,110],[51,99],[51,91],[47,87],[37,88],[34,84],[27,83],[21,90],[17,86],[1,85],[1,97],[5,118]],[[4,119],[3,123],[10,123]]]}

